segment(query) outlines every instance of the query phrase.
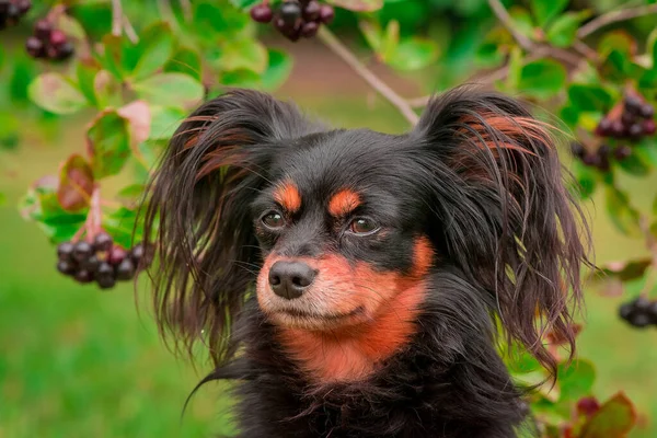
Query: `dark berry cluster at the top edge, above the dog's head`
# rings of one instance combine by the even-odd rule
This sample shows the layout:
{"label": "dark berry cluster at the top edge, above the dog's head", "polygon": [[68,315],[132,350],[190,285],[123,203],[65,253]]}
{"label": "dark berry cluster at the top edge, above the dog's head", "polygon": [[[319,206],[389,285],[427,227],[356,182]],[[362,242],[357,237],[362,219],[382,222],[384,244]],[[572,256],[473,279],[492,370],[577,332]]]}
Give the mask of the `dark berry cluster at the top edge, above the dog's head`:
{"label": "dark berry cluster at the top edge, above the dog's head", "polygon": [[321,24],[333,21],[335,11],[328,4],[320,4],[316,0],[285,0],[277,10],[267,1],[251,9],[251,18],[258,23],[274,23],[289,41],[314,36]]}

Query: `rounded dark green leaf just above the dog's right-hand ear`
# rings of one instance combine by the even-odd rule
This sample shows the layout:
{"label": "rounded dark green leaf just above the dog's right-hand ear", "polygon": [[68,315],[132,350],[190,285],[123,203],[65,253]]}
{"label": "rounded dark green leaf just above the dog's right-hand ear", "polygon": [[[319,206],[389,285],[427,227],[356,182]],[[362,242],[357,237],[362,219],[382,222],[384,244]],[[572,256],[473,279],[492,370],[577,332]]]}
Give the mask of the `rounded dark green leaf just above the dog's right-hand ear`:
{"label": "rounded dark green leaf just above the dog's right-hand ear", "polygon": [[553,59],[527,64],[520,72],[518,91],[538,99],[549,99],[565,87],[566,69]]}

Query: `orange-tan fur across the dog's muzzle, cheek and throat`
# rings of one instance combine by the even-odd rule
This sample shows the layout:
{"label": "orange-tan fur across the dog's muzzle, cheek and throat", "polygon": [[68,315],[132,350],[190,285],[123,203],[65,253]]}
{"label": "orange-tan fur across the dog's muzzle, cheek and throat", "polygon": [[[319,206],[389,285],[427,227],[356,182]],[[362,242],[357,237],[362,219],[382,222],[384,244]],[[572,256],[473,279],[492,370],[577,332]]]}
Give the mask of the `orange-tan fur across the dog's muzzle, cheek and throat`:
{"label": "orange-tan fur across the dog's muzzle, cheek and throat", "polygon": [[378,272],[366,263],[351,266],[335,254],[303,260],[319,275],[312,289],[295,300],[295,306],[325,315],[310,319],[281,314],[277,309],[267,274],[279,258],[267,257],[257,281],[258,303],[279,325],[279,339],[290,357],[313,380],[325,383],[366,379],[416,333],[426,296],[424,279],[433,257],[434,250],[423,237],[415,242],[408,275]]}

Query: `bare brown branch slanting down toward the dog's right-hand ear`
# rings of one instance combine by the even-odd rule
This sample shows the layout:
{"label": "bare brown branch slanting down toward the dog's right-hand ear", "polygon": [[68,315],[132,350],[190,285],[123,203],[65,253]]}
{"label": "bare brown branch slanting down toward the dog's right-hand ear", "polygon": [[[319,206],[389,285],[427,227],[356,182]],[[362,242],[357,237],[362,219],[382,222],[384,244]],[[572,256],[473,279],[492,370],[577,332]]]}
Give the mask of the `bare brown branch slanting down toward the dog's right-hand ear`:
{"label": "bare brown branch slanting down toward the dog's right-hand ear", "polygon": [[360,76],[371,88],[377,90],[379,94],[385,97],[391,104],[393,104],[400,113],[412,124],[416,125],[419,117],[413,111],[408,102],[400,96],[394,90],[392,90],[385,82],[377,77],[371,70],[369,70],[362,62],[356,58],[356,56],[339,41],[331,31],[322,26],[318,36],[326,47],[328,47],[335,55],[342,58],[349,67]]}

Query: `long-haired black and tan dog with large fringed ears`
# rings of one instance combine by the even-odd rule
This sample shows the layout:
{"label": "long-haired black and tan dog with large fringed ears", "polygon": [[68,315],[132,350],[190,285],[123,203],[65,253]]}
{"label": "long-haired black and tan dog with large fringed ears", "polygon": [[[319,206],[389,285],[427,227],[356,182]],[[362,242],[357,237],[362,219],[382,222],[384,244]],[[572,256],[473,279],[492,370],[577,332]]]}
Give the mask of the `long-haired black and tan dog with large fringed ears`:
{"label": "long-haired black and tan dog with large fringed ears", "polygon": [[544,334],[574,351],[587,262],[552,131],[469,87],[402,135],[228,90],[149,186],[162,331],[209,350],[201,383],[237,381],[240,437],[517,436],[498,345],[554,374]]}

